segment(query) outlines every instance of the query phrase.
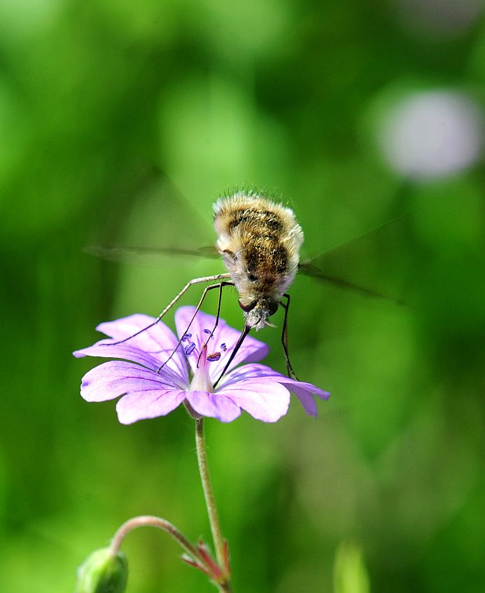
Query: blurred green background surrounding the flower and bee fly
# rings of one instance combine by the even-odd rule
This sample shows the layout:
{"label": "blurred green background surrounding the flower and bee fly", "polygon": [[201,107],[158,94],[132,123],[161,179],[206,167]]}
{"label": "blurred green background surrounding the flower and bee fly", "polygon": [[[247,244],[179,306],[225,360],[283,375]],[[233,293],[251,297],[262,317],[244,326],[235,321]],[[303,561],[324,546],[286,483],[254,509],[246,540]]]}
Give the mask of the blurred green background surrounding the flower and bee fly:
{"label": "blurred green background surrounding the flower and bee fly", "polygon": [[[418,155],[424,170],[403,171],[379,140],[412,93],[460,93],[482,117],[480,13],[472,0],[0,3],[2,591],[72,590],[84,557],[140,513],[209,539],[187,414],[120,426],[114,403],[80,398],[96,361],[71,352],[99,322],[156,315],[221,270],[84,246],[210,244],[211,203],[243,183],[292,205],[310,255],[415,212],[329,257],[413,308],[297,278],[292,362],[331,399],[318,419],[293,401],[274,425],[207,421],[234,590],[329,592],[353,539],[373,592],[485,591],[484,161],[475,146],[449,170],[428,174]],[[234,296],[223,316],[241,326]],[[283,371],[279,331],[258,337]],[[128,592],[215,590],[161,532],[124,549]]]}

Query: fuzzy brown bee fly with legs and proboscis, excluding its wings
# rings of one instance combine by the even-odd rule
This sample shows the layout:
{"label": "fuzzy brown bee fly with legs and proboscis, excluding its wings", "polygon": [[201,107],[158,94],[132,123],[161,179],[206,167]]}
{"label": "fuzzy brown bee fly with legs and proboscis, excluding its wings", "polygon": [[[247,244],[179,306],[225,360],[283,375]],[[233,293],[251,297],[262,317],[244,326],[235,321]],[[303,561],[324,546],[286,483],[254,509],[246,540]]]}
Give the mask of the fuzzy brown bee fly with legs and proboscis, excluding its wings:
{"label": "fuzzy brown bee fly with legs and proboscis, excluding its wings", "polygon": [[[258,330],[271,325],[268,318],[276,313],[278,306],[285,310],[281,333],[285,363],[288,375],[295,378],[288,356],[290,295],[287,290],[299,269],[299,249],[304,235],[293,211],[258,193],[239,191],[230,197],[220,198],[214,204],[214,226],[218,234],[216,250],[223,259],[227,273],[190,280],[148,327],[158,323],[192,285],[214,282],[204,289],[188,326],[189,328],[195,319],[207,292],[218,289],[216,324],[207,338],[208,341],[218,325],[223,287],[234,286],[239,293],[238,302],[244,313],[244,329],[214,386],[221,380],[251,329]],[[142,331],[144,329],[119,343]],[[177,348],[181,342],[182,338]],[[172,358],[174,352],[162,366]]]}

